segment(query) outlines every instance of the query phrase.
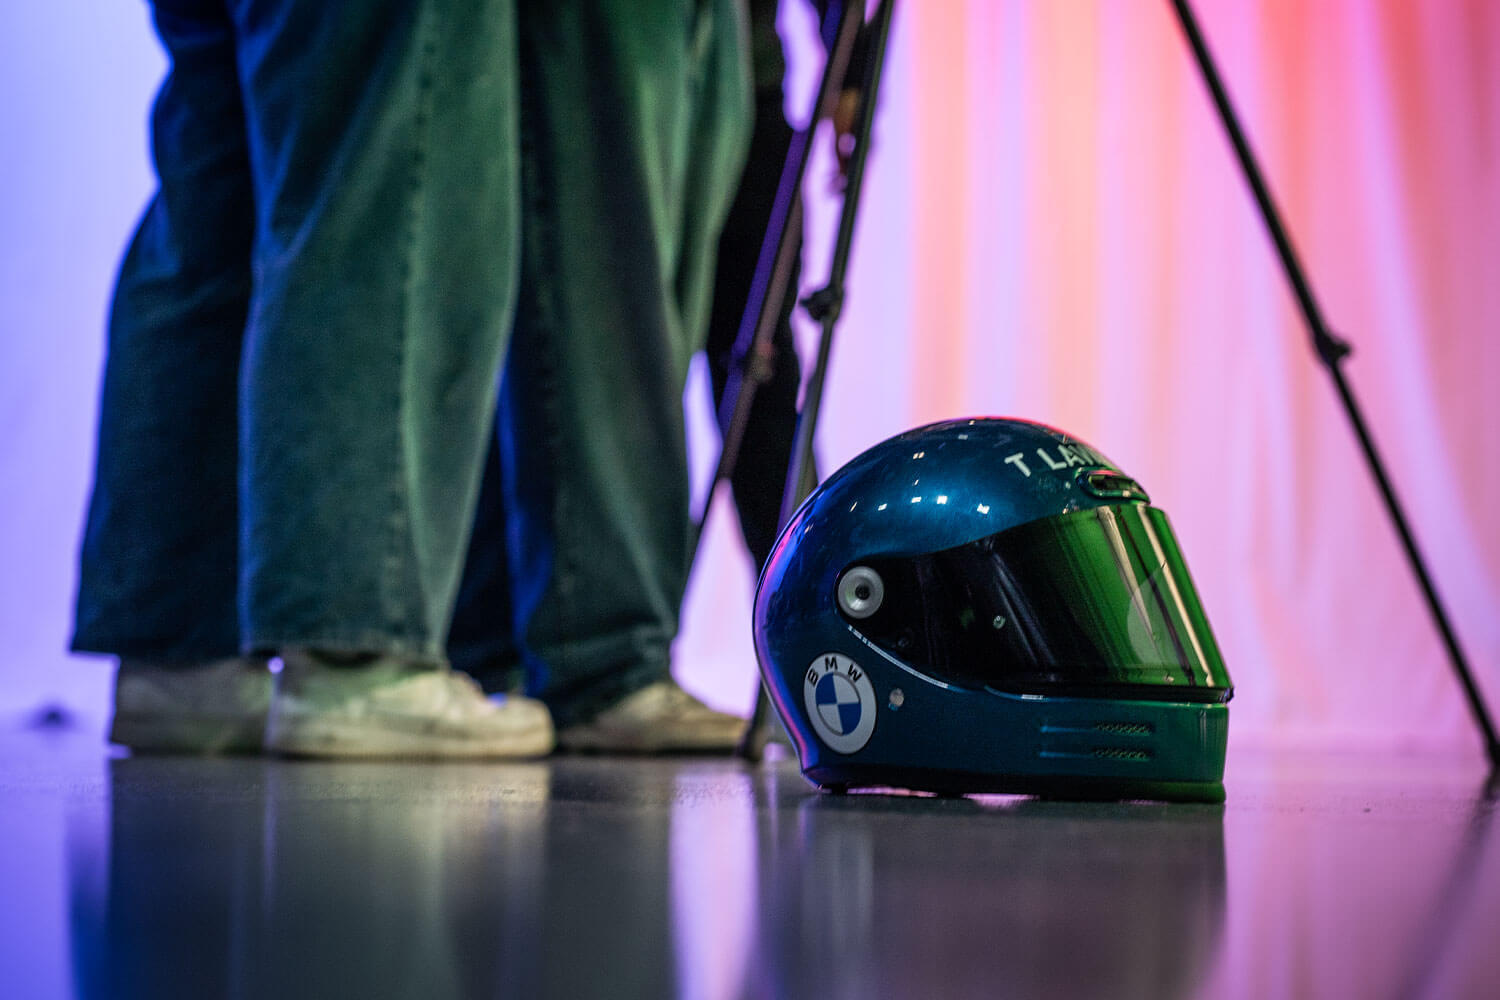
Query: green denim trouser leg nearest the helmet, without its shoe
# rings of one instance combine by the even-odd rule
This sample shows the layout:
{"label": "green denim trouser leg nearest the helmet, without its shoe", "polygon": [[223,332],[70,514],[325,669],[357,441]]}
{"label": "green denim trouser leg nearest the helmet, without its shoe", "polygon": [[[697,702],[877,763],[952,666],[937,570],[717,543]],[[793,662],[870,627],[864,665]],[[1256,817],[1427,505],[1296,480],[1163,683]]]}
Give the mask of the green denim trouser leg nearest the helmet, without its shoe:
{"label": "green denim trouser leg nearest the helmet, without its shoe", "polygon": [[682,385],[748,138],[729,0],[526,4],[522,298],[500,414],[516,636],[560,726],[669,676]]}

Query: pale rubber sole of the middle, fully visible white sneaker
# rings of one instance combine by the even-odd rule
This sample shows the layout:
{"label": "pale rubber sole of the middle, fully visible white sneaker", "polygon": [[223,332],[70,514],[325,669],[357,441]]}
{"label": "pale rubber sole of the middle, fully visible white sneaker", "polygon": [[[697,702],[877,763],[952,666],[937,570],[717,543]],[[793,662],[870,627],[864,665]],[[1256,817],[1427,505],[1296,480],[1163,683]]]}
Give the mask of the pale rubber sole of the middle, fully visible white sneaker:
{"label": "pale rubber sole of the middle, fully visible white sneaker", "polygon": [[525,759],[552,753],[550,727],[489,739],[444,736],[432,732],[372,729],[364,723],[328,720],[286,721],[273,717],[266,732],[266,748],[285,757],[366,757],[366,759]]}

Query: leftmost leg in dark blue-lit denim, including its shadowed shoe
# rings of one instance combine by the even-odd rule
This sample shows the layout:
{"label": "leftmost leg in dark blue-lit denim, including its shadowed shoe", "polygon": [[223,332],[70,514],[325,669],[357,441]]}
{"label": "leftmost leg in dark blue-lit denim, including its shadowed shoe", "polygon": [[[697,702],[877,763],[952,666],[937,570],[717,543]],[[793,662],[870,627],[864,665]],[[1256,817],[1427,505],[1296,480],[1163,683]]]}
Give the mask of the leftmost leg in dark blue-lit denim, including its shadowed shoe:
{"label": "leftmost leg in dark blue-lit denim, including its shadowed shoe", "polygon": [[234,33],[160,4],[171,69],[152,109],[158,192],[120,265],[80,559],[74,649],[120,658],[111,742],[255,751],[264,658],[236,612],[240,342],[254,229]]}

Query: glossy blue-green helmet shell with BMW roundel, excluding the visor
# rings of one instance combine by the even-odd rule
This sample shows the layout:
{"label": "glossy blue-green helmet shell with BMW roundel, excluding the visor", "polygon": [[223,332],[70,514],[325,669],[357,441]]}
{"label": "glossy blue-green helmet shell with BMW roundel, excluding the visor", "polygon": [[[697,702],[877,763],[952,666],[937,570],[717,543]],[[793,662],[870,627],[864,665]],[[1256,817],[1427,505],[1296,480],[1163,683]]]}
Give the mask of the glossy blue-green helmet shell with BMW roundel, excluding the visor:
{"label": "glossy blue-green helmet shell with BMW roundel, excluding the visor", "polygon": [[[754,601],[762,678],[802,772],[834,789],[1222,798],[1222,702],[956,685],[840,615],[840,576],[864,561],[934,553],[1044,519],[1146,502],[1102,453],[1023,420],[918,427],[830,475],[782,531]],[[1206,622],[1203,631],[1216,661]]]}

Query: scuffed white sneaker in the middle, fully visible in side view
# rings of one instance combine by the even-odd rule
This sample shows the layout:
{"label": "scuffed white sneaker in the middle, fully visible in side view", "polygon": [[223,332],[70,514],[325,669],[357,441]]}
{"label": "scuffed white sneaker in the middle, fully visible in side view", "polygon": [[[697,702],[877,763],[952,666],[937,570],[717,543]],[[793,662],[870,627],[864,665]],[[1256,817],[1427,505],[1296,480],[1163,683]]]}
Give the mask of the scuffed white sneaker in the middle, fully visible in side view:
{"label": "scuffed white sneaker in the middle, fully visible in side view", "polygon": [[286,651],[266,748],[297,757],[540,757],[552,753],[542,702],[490,700],[466,673],[398,657],[339,666]]}

